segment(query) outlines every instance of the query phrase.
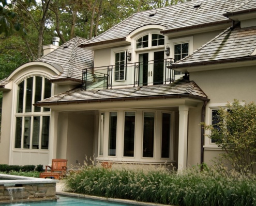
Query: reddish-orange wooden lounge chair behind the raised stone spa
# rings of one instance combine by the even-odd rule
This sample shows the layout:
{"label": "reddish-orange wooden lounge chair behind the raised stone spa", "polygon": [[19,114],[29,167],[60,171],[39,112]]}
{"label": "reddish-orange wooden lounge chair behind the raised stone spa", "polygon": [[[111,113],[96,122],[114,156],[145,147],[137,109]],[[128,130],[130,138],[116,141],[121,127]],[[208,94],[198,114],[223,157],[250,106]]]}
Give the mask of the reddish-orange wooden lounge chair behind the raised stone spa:
{"label": "reddish-orange wooden lounge chair behind the raised stone spa", "polygon": [[[46,165],[46,171],[40,173],[40,178],[62,178],[67,171],[67,161],[65,159],[52,159],[52,166]],[[50,168],[51,171],[48,171],[47,168]]]}

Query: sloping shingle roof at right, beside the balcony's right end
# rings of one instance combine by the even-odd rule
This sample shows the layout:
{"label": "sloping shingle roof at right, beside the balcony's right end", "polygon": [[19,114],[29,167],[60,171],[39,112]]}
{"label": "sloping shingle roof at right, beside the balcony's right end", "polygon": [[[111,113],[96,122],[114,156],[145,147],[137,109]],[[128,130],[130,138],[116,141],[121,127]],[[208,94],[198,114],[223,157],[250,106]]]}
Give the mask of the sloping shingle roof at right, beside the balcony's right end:
{"label": "sloping shingle roof at right, beside the balcony's right end", "polygon": [[226,29],[220,35],[195,50],[184,59],[172,64],[172,68],[193,66],[234,59],[255,59],[256,27]]}

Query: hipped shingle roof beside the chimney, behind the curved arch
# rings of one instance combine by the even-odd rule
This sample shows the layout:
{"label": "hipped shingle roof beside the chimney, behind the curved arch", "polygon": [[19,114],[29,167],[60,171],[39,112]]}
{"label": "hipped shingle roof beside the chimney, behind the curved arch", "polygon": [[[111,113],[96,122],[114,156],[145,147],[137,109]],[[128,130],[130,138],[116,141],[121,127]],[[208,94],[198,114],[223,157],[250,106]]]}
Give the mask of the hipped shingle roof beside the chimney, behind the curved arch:
{"label": "hipped shingle roof beside the chimney, behind the curved arch", "polygon": [[53,52],[39,58],[37,61],[59,65],[63,68],[63,73],[53,77],[52,81],[62,79],[72,79],[81,81],[82,70],[93,67],[93,52],[91,50],[78,47],[86,43],[87,40],[75,37],[65,44],[59,46]]}

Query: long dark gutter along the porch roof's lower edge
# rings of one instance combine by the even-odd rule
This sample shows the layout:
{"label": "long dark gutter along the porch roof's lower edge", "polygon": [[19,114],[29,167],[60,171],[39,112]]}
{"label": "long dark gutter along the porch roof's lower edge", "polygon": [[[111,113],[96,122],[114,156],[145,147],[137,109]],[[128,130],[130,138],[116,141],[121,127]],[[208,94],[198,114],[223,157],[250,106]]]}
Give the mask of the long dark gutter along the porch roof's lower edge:
{"label": "long dark gutter along the porch roof's lower edge", "polygon": [[92,100],[76,100],[76,101],[53,101],[53,102],[38,102],[34,106],[44,107],[52,105],[69,105],[69,104],[83,104],[83,103],[100,103],[100,102],[113,102],[113,101],[132,101],[132,100],[151,100],[151,99],[170,99],[170,98],[192,98],[202,101],[209,101],[207,97],[195,96],[191,94],[181,95],[161,95],[161,96],[145,96],[145,97],[127,97],[127,98],[107,98],[107,99],[92,99]]}

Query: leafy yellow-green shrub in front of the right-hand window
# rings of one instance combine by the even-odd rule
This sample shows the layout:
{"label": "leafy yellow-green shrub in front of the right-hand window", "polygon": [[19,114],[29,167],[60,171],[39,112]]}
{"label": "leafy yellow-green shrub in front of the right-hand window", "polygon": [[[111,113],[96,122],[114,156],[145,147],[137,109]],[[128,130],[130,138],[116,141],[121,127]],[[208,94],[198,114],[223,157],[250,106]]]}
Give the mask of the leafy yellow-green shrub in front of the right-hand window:
{"label": "leafy yellow-green shrub in front of the right-hand window", "polygon": [[218,123],[203,126],[209,138],[225,152],[220,160],[227,160],[238,171],[254,171],[256,164],[256,105],[240,104],[238,100],[218,110]]}

